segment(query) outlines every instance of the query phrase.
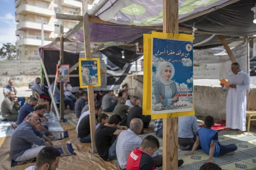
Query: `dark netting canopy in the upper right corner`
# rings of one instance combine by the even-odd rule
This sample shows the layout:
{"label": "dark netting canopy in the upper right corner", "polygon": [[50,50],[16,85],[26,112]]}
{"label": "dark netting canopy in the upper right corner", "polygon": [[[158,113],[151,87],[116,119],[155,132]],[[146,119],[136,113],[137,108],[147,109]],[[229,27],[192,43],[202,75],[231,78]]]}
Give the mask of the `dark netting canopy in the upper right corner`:
{"label": "dark netting canopy in the upper right corner", "polygon": [[256,0],[240,0],[214,12],[180,23],[179,26],[229,36],[252,36],[256,34],[254,12]]}

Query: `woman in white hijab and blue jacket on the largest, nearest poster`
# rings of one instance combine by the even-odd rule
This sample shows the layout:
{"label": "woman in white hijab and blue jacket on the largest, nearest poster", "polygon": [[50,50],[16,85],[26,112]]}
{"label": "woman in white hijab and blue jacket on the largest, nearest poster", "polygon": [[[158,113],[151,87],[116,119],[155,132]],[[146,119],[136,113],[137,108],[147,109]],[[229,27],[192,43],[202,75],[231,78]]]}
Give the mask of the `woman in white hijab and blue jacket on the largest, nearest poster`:
{"label": "woman in white hijab and blue jacket on the largest, nearest poster", "polygon": [[175,69],[170,62],[162,62],[157,67],[159,81],[155,82],[155,104],[161,103],[161,110],[170,110],[170,105],[179,100],[175,81],[171,80]]}

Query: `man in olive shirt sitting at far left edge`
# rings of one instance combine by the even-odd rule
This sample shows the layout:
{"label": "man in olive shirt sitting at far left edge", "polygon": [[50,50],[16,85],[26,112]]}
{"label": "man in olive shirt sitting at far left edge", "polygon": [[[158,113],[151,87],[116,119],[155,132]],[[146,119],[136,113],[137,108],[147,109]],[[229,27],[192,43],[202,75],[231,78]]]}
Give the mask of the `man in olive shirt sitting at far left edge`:
{"label": "man in olive shirt sitting at far left edge", "polygon": [[18,118],[18,111],[14,109],[14,97],[15,93],[14,91],[10,91],[7,95],[6,98],[4,98],[4,101],[2,102],[1,105],[1,112],[2,116],[5,121],[11,121],[11,122],[16,122]]}

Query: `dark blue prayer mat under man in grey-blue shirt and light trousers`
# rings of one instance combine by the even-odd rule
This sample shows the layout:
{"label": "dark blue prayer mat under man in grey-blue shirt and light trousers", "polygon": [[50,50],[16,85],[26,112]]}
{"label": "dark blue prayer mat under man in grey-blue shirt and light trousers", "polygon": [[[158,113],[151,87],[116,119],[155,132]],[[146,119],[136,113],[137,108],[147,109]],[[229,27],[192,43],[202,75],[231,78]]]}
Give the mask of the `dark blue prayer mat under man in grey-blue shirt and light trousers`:
{"label": "dark blue prayer mat under man in grey-blue shirt and light trousers", "polygon": [[[74,149],[73,149],[73,146],[72,146],[71,143],[59,144],[59,145],[55,145],[54,147],[60,151],[60,157],[77,155],[74,152]],[[31,160],[28,160],[28,161],[21,161],[21,162],[17,162],[17,161],[14,161],[14,160],[11,159],[11,167],[16,166],[16,165],[22,165],[24,163],[29,163],[29,162],[33,162],[33,161],[36,161],[36,158],[33,158]]]}

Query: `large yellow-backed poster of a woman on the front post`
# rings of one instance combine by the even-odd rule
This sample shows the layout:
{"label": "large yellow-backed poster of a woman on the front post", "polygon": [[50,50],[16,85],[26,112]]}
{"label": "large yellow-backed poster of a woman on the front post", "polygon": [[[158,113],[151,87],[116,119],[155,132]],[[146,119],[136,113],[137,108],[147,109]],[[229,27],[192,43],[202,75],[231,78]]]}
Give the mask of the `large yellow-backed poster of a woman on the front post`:
{"label": "large yellow-backed poster of a woman on the front post", "polygon": [[143,115],[151,113],[152,119],[194,115],[193,36],[160,32],[144,36],[144,51],[150,50],[144,52]]}

